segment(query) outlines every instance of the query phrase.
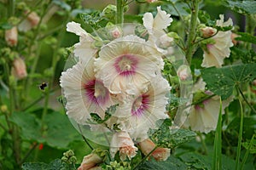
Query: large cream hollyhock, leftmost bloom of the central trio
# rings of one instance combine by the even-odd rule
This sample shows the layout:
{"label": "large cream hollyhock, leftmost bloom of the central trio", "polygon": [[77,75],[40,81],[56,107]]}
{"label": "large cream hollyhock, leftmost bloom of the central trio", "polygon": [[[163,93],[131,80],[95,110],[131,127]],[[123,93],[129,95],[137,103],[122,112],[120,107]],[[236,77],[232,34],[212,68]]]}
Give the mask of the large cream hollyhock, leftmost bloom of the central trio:
{"label": "large cream hollyhock, leftmost bloom of the central trio", "polygon": [[93,63],[94,58],[88,63],[78,62],[61,74],[67,115],[80,124],[86,124],[90,113],[103,118],[107,108],[113,105],[108,88],[95,77]]}

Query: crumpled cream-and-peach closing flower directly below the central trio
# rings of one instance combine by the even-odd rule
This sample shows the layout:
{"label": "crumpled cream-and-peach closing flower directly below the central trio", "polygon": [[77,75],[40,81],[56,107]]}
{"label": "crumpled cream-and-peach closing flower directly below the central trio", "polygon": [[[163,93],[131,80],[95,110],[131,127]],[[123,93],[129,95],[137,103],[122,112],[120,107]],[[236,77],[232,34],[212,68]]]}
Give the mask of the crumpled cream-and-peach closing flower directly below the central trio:
{"label": "crumpled cream-and-peach closing flower directly below the central trio", "polygon": [[131,159],[137,154],[137,147],[134,146],[129,134],[125,131],[113,133],[113,138],[110,144],[110,154],[112,157],[119,151],[119,156],[122,161],[125,161],[126,156]]}

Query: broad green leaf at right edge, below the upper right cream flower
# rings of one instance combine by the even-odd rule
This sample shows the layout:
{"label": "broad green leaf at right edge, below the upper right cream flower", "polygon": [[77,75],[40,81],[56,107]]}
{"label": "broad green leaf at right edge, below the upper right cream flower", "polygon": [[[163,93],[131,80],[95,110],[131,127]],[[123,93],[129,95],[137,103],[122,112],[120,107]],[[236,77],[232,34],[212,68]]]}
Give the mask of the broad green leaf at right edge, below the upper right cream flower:
{"label": "broad green leaf at right edge, below the upper right cream flower", "polygon": [[246,65],[229,65],[222,68],[210,67],[201,71],[207,89],[213,94],[227,99],[237,84],[251,82],[256,78],[256,63]]}

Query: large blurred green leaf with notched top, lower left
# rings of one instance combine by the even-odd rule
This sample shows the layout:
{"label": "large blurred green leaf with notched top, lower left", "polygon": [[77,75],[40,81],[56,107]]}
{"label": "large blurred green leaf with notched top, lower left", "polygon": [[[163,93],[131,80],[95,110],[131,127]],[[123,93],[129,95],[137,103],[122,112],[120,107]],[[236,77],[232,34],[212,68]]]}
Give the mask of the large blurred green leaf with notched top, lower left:
{"label": "large blurred green leaf with notched top, lower left", "polygon": [[81,140],[67,116],[59,112],[52,112],[45,116],[44,123],[47,129],[44,133],[42,133],[41,122],[31,113],[15,113],[10,117],[10,121],[20,127],[22,139],[46,143],[51,147],[66,149],[73,140]]}

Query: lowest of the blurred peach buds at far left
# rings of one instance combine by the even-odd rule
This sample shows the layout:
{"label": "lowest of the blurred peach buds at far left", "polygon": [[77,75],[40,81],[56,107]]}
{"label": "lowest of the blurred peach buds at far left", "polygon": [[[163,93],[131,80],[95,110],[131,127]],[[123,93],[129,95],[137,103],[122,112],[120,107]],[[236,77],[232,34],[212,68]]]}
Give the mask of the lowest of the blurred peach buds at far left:
{"label": "lowest of the blurred peach buds at far left", "polygon": [[22,79],[27,76],[26,64],[23,59],[16,58],[13,62],[12,74],[18,79]]}

